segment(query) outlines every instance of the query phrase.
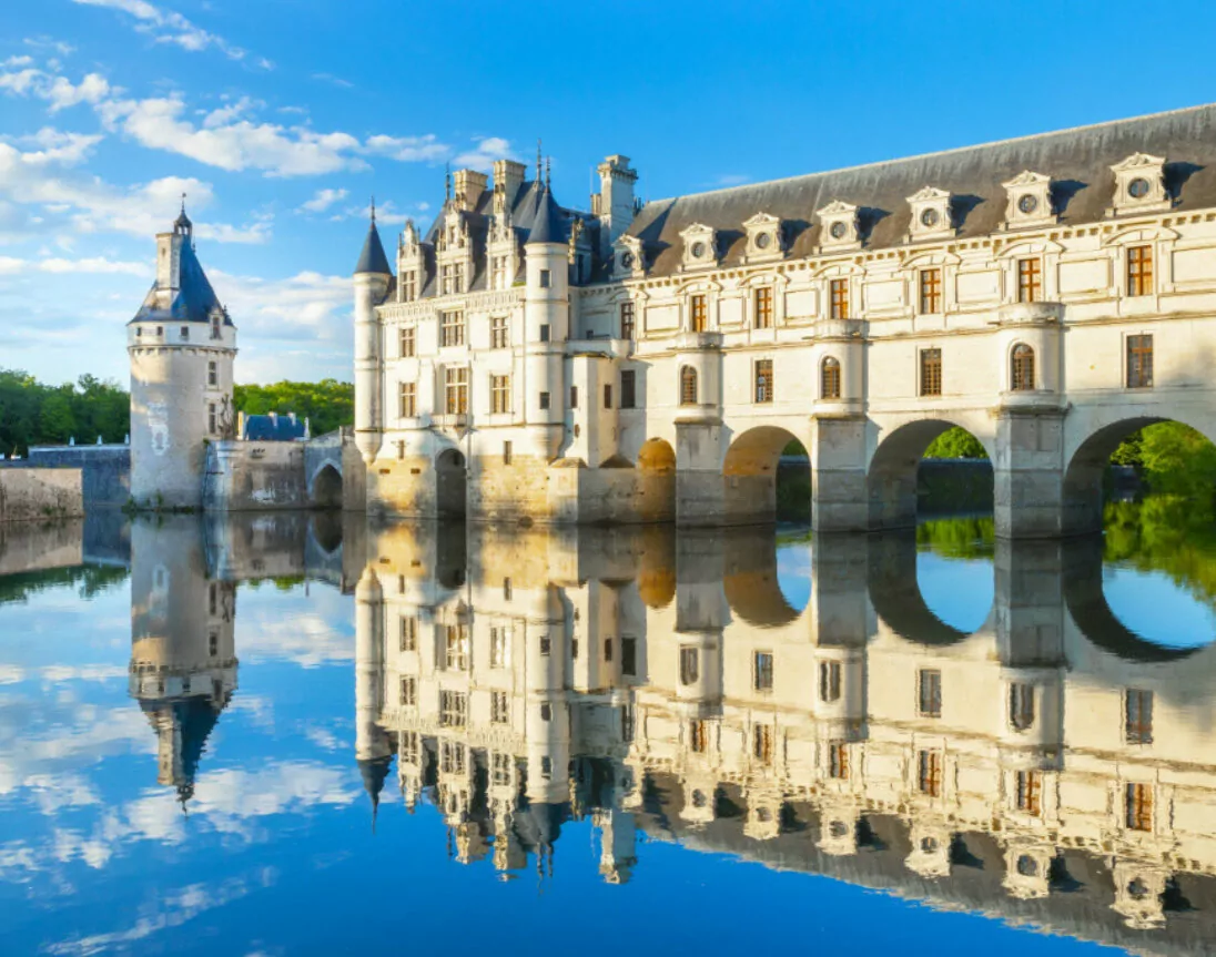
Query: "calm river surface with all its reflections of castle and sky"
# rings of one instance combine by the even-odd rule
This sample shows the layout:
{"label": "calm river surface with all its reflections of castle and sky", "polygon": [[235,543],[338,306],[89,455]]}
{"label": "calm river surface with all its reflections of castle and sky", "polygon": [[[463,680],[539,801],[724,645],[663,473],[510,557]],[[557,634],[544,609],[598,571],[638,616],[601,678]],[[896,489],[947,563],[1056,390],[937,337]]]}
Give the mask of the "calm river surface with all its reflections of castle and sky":
{"label": "calm river surface with all its reflections of castle and sky", "polygon": [[0,533],[0,952],[1216,950],[1216,546]]}

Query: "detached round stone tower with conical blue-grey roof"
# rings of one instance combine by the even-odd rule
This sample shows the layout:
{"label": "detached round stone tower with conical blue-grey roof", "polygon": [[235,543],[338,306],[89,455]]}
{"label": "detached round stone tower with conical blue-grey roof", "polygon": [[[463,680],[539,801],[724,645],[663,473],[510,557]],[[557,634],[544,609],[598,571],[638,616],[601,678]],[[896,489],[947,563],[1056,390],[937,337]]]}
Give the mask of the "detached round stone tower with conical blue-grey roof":
{"label": "detached round stone tower with conical blue-grey roof", "polygon": [[141,508],[199,508],[207,443],[235,434],[236,326],[195,255],[185,204],[156,244],[156,282],[126,325],[131,497]]}

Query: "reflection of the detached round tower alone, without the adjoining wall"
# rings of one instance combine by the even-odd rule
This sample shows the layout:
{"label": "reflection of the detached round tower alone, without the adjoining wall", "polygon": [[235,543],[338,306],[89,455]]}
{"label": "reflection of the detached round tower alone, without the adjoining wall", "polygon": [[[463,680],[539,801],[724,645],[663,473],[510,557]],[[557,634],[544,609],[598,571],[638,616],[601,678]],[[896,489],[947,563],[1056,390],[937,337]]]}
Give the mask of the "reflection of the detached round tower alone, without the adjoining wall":
{"label": "reflection of the detached round tower alone, without the adjoining wall", "polygon": [[157,733],[157,781],[182,803],[236,689],[236,589],[209,579],[197,519],[131,529],[130,693]]}

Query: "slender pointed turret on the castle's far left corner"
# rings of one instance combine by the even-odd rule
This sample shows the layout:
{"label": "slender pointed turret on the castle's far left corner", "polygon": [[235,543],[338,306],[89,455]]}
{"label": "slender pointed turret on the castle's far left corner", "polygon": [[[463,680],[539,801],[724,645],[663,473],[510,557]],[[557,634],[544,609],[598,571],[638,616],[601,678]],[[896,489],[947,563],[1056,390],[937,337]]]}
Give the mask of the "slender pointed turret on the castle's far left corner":
{"label": "slender pointed turret on the castle's far left corner", "polygon": [[373,204],[367,238],[355,264],[355,446],[368,465],[376,460],[384,429],[382,342],[376,306],[384,302],[392,281]]}

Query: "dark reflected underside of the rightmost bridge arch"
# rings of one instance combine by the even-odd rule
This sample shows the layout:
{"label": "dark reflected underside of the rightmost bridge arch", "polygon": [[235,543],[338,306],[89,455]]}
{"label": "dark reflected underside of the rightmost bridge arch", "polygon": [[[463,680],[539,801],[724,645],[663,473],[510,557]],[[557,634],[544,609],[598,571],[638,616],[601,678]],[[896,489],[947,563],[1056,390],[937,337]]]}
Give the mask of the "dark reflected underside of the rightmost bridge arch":
{"label": "dark reflected underside of the rightmost bridge arch", "polygon": [[1137,663],[1178,662],[1212,644],[1170,648],[1149,641],[1119,620],[1107,601],[1102,579],[1103,539],[1087,535],[1064,542],[1064,604],[1073,624],[1098,648]]}

